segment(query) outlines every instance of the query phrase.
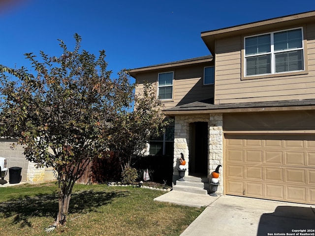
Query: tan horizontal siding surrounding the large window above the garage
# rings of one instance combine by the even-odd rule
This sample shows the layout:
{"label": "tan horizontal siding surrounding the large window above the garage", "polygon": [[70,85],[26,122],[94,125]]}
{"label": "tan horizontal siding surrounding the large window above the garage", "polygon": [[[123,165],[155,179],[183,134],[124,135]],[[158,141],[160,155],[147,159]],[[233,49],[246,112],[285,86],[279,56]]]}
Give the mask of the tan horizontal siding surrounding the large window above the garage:
{"label": "tan horizontal siding surrounding the large window above the garage", "polygon": [[[289,28],[287,28],[289,29]],[[266,78],[241,77],[243,36],[216,41],[215,104],[311,99],[315,93],[315,24],[303,25],[308,73]],[[273,29],[270,29],[270,32]],[[256,34],[254,32],[252,34]]]}

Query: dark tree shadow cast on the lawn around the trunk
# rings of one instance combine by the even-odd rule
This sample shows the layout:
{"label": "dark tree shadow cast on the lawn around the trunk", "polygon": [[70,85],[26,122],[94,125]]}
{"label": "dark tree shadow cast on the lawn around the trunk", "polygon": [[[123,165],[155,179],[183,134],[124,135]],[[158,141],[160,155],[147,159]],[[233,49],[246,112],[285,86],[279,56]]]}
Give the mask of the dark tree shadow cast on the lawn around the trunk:
{"label": "dark tree shadow cast on the lawn around the trunk", "polygon": [[[98,207],[110,204],[115,198],[128,195],[128,191],[102,192],[102,191],[80,191],[71,195],[69,213],[85,213],[96,211]],[[0,212],[8,218],[14,215],[14,224],[21,227],[31,227],[30,217],[57,217],[58,195],[38,194],[34,197],[18,198],[8,202],[0,203]]]}

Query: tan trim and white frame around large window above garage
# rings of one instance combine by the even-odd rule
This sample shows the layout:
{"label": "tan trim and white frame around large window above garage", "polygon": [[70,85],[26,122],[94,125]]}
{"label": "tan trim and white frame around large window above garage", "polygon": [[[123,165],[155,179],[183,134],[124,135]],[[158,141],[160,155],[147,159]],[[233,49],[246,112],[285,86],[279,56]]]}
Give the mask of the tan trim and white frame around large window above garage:
{"label": "tan trim and white frame around large window above garage", "polygon": [[[274,34],[276,32],[283,32],[283,31],[289,31],[289,30],[294,30],[294,29],[301,29],[302,30],[302,48],[299,49],[294,49],[294,50],[303,50],[303,66],[304,69],[303,70],[295,70],[295,71],[284,71],[284,72],[278,72],[275,73],[274,69],[275,69],[275,61],[274,61],[274,56],[275,54],[277,54],[280,51],[274,51],[273,50],[273,36],[271,39],[271,57],[272,57],[272,62],[271,62],[271,73],[270,74],[259,74],[259,75],[250,75],[247,76],[246,75],[246,55],[245,55],[245,39],[249,38],[249,37],[254,37],[254,36],[259,36],[259,35],[264,35],[264,34]],[[306,40],[306,30],[305,30],[305,26],[298,26],[298,27],[292,27],[292,28],[284,28],[284,29],[280,29],[280,30],[274,30],[274,31],[264,31],[258,34],[251,34],[251,35],[243,35],[243,40],[242,40],[242,50],[241,50],[241,57],[242,57],[242,65],[241,65],[241,80],[251,80],[251,79],[258,79],[258,78],[271,78],[271,77],[282,77],[282,76],[296,76],[296,75],[303,75],[303,74],[308,74],[308,58],[307,58],[307,40]],[[288,52],[291,51],[290,49],[285,50],[284,52]],[[264,54],[257,54],[259,55],[264,55]]]}

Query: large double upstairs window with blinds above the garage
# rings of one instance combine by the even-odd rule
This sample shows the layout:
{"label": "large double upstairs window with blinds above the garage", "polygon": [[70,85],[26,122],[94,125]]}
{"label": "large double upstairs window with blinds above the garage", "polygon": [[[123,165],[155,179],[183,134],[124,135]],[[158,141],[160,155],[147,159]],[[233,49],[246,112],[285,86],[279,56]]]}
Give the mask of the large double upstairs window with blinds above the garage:
{"label": "large double upstairs window with blinds above the garage", "polygon": [[304,70],[302,28],[245,37],[245,76]]}

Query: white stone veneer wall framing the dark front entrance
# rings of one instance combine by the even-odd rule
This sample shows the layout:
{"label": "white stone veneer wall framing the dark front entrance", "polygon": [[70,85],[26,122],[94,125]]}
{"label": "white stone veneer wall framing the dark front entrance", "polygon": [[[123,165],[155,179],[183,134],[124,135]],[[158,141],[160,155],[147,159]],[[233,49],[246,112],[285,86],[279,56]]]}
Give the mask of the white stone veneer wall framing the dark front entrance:
{"label": "white stone veneer wall framing the dark front entrance", "polygon": [[[177,167],[179,162],[177,158],[180,157],[181,152],[186,160],[186,173],[189,175],[189,123],[193,122],[208,122],[208,177],[211,178],[211,173],[218,165],[223,166],[223,132],[222,132],[222,114],[210,115],[192,115],[192,116],[176,116],[175,117],[175,132],[174,132],[174,160],[173,160],[173,175],[178,176]],[[223,171],[220,168],[220,185],[218,186],[217,193],[223,193]],[[176,180],[176,179],[175,179]]]}

